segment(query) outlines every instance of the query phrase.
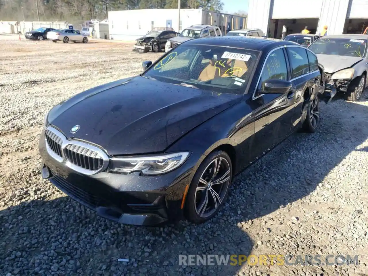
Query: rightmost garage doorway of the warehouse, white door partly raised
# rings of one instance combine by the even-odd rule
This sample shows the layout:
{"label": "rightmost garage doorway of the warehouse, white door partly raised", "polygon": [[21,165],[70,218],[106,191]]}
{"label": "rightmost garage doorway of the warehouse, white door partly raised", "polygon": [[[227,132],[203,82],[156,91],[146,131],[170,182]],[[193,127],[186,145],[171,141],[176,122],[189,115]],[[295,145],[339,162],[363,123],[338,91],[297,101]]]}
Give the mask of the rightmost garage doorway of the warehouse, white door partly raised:
{"label": "rightmost garage doorway of the warehouse, white door partly raised", "polygon": [[350,0],[344,33],[363,33],[368,26],[368,0]]}

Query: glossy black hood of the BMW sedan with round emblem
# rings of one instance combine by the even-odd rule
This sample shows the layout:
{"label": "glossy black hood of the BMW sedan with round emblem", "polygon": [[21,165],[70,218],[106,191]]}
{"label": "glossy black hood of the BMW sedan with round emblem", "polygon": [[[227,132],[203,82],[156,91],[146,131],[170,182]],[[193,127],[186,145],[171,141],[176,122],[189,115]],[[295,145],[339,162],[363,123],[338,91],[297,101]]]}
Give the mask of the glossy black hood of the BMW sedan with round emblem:
{"label": "glossy black hood of the BMW sedan with round emblem", "polygon": [[[109,155],[162,152],[242,97],[137,76],[89,89],[60,103],[50,110],[47,123],[68,138],[102,146]],[[75,125],[80,129],[71,134]]]}

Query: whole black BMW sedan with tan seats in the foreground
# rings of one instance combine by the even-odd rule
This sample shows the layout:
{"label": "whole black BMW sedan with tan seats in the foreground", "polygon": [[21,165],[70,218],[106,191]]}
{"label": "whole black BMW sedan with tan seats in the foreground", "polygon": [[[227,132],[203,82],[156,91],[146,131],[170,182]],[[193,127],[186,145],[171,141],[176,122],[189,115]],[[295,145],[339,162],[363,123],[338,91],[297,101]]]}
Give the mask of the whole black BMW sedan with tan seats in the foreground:
{"label": "whole black BMW sedan with tan seats in the foreground", "polygon": [[233,176],[314,132],[333,94],[315,54],[282,40],[189,40],[143,67],[53,107],[39,141],[43,178],[127,224],[210,219]]}

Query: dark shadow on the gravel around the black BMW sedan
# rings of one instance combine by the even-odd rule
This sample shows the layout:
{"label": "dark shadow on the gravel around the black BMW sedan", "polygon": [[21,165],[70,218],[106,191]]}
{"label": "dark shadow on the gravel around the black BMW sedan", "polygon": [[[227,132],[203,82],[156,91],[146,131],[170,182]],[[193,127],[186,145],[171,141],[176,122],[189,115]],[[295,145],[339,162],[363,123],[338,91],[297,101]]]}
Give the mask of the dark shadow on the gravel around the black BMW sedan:
{"label": "dark shadow on the gravel around the black BMW sedan", "polygon": [[[367,106],[337,100],[322,105],[321,113],[315,134],[292,135],[236,176],[219,214],[201,225],[113,223],[40,180],[42,189],[32,194],[35,200],[0,211],[0,271],[4,275],[236,275],[244,264],[179,265],[179,255],[248,256],[277,229],[295,229],[292,222],[297,215],[280,216],[277,211],[304,200],[368,138]],[[45,188],[61,197],[42,200]],[[10,199],[9,204],[16,202]]]}

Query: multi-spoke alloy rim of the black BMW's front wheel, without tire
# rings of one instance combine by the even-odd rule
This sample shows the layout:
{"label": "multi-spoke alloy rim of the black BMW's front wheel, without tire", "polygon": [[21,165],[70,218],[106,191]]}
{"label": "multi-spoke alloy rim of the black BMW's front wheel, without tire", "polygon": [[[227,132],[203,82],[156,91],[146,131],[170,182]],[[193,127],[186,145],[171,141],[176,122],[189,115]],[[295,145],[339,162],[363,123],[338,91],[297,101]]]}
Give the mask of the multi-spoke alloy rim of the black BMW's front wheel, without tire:
{"label": "multi-spoke alloy rim of the black BMW's front wheel, without tire", "polygon": [[219,208],[230,184],[230,164],[223,157],[212,160],[203,171],[195,190],[195,212],[205,218]]}

